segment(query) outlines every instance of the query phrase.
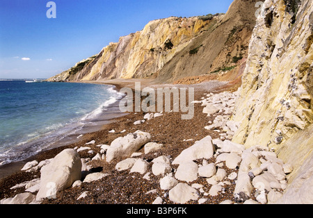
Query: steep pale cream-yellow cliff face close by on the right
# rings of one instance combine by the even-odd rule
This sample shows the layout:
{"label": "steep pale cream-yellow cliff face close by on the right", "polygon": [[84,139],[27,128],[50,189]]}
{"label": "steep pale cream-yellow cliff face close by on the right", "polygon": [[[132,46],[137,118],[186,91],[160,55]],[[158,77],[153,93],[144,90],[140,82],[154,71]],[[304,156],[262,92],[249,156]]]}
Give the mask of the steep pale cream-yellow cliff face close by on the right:
{"label": "steep pale cream-yellow cliff face close by on the right", "polygon": [[[240,124],[233,141],[274,149],[294,165],[292,181],[303,162],[312,159],[313,1],[266,0],[263,11],[252,33],[232,118]],[[307,183],[294,185],[298,190],[312,185],[312,167],[305,170],[311,173]],[[291,196],[300,194],[296,192]]]}

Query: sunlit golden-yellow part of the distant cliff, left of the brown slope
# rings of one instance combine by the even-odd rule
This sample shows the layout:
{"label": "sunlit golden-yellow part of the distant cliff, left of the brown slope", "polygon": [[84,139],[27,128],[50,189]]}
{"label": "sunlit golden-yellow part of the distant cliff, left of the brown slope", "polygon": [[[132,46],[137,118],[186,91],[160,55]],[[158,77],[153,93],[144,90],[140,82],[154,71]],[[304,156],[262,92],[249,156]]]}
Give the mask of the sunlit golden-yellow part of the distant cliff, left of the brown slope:
{"label": "sunlit golden-yellow part of the distant cliff, left of the brown slope", "polygon": [[[104,47],[83,68],[77,69],[80,62],[57,76],[71,81],[151,76],[221,17],[223,15],[154,20],[142,31],[120,37],[119,42]],[[54,78],[56,76],[50,80]]]}

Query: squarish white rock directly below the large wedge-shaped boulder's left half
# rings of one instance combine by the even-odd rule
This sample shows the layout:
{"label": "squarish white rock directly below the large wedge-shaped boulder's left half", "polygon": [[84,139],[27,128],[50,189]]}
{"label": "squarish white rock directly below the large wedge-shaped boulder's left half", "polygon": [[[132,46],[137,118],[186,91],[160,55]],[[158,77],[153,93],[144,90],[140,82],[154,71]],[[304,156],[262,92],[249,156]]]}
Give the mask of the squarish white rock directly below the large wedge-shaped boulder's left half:
{"label": "squarish white rock directly below the large wedge-shaped boulder's left half", "polygon": [[198,178],[198,165],[193,162],[183,162],[177,168],[175,178],[180,181],[192,182]]}

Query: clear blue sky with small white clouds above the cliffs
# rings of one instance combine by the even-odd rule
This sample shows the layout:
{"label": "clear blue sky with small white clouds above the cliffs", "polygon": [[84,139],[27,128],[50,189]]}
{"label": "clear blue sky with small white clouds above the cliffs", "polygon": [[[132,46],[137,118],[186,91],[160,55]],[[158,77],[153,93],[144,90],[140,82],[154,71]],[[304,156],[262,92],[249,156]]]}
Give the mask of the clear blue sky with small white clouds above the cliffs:
{"label": "clear blue sky with small white clouds above the cliffs", "polygon": [[54,0],[51,12],[49,0],[1,0],[0,78],[49,78],[151,20],[227,12],[232,1]]}

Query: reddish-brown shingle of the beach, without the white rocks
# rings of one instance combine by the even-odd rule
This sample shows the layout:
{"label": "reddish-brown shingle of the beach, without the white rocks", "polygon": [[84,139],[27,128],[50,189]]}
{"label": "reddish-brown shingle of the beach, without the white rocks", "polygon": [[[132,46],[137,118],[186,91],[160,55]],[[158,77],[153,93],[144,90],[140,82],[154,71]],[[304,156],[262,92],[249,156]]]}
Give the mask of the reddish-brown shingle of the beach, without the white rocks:
{"label": "reddish-brown shingle of the beach, without the white rocks", "polygon": [[[115,85],[117,90],[122,87],[134,88],[134,82],[141,82],[141,87],[171,87],[171,84],[154,84],[151,81],[145,80],[116,80],[116,81],[101,81],[97,83]],[[194,100],[200,100],[205,97],[204,94],[210,92],[218,93],[232,90],[232,85],[220,81],[209,81],[195,85],[179,85],[179,87],[194,87],[195,96]],[[86,133],[80,138],[79,142],[69,144],[67,146],[56,147],[47,151],[42,151],[37,155],[28,158],[22,162],[11,163],[0,167],[1,181],[0,181],[0,199],[13,197],[16,194],[24,192],[24,188],[11,190],[10,187],[22,183],[24,181],[31,181],[34,178],[40,178],[40,171],[25,172],[20,171],[26,162],[37,160],[38,162],[49,158],[54,158],[58,153],[68,148],[86,146],[86,143],[95,140],[95,144],[90,144],[90,148],[95,153],[100,152],[97,144],[111,144],[113,140],[118,137],[124,137],[128,133],[134,133],[138,130],[150,133],[150,142],[157,142],[165,146],[154,153],[144,154],[143,148],[138,152],[142,152],[138,158],[143,158],[148,162],[158,156],[170,156],[172,159],[176,158],[179,153],[184,149],[193,145],[195,141],[210,135],[212,139],[218,138],[220,135],[217,131],[204,129],[204,126],[218,115],[208,117],[202,113],[203,107],[200,104],[195,104],[193,119],[182,119],[182,112],[163,112],[163,116],[156,117],[145,121],[143,124],[134,125],[135,121],[142,120],[145,112],[127,112],[125,116],[114,118],[109,124],[102,127],[102,130],[93,133]],[[109,133],[114,130],[114,133]],[[122,132],[122,133],[121,133]],[[79,155],[81,158],[93,158],[95,153],[88,153],[88,151],[81,151]],[[100,181],[93,183],[83,184],[83,187],[71,187],[67,190],[59,192],[56,199],[45,199],[42,203],[152,203],[156,195],[161,194],[159,188],[160,176],[154,176],[150,181],[146,181],[140,174],[129,174],[127,171],[116,171],[115,165],[121,159],[106,162],[104,160],[93,160],[90,162],[92,169],[97,172],[110,174],[110,177],[103,178]],[[214,160],[212,160],[214,161]],[[226,167],[225,167],[226,168]],[[229,169],[227,169],[229,171]],[[231,172],[229,172],[231,173]],[[4,177],[4,178],[3,178]],[[198,183],[206,183],[204,179],[199,178]],[[97,196],[102,190],[101,196]],[[77,197],[81,194],[81,190],[88,190],[93,197],[76,201]],[[145,194],[150,190],[157,190],[154,194]],[[224,199],[232,198],[234,185],[227,188],[225,194],[218,197],[212,197],[207,203],[220,203]],[[118,197],[115,193],[122,193]],[[130,197],[131,196],[131,197]],[[196,202],[189,202],[196,203]]]}

